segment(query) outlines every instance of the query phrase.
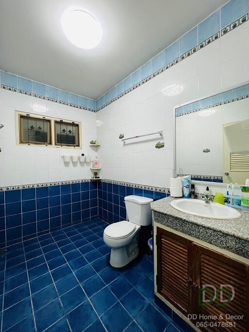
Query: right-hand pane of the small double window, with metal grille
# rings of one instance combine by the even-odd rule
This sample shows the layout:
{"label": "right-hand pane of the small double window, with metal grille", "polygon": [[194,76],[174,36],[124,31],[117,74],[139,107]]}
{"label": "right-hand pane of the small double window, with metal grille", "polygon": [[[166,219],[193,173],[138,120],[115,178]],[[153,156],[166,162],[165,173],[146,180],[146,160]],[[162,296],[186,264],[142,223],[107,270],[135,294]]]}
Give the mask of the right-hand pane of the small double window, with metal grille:
{"label": "right-hand pane of the small double window, with metal grille", "polygon": [[55,121],[55,145],[79,147],[79,125],[75,122]]}

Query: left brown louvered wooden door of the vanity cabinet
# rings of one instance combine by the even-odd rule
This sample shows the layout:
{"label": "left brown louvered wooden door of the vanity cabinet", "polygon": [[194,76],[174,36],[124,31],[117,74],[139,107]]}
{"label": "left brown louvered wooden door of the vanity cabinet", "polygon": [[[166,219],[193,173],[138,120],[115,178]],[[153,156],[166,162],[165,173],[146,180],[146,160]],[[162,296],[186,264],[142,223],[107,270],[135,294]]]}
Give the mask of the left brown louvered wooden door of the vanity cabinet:
{"label": "left brown louvered wooden door of the vanity cabinet", "polygon": [[183,314],[190,312],[190,241],[157,227],[158,293]]}

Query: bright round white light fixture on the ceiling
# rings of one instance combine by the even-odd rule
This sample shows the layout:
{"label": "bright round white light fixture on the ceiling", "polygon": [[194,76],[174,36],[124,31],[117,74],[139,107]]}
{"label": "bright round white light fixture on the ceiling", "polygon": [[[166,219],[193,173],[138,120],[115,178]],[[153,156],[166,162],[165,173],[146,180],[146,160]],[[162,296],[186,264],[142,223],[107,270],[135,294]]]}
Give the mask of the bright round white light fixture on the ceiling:
{"label": "bright round white light fixture on the ceiling", "polygon": [[102,39],[100,23],[84,10],[67,10],[62,15],[61,24],[67,38],[79,48],[94,48]]}

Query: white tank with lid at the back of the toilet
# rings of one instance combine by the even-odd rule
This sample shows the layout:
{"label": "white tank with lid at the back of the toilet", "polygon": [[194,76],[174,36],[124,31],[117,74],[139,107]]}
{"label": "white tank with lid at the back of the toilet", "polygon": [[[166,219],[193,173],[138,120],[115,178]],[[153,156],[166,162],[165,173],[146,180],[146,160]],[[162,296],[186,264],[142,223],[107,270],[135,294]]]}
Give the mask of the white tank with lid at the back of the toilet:
{"label": "white tank with lid at the back of the toilet", "polygon": [[140,226],[148,226],[152,221],[150,203],[153,199],[130,195],[125,197],[128,220]]}

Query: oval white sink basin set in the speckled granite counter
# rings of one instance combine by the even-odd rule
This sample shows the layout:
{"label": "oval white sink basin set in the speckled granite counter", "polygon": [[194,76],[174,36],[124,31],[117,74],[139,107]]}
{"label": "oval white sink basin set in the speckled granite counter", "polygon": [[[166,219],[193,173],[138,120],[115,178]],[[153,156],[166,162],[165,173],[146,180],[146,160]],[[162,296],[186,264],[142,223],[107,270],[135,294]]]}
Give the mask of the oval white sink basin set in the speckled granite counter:
{"label": "oval white sink basin set in the speckled granite counter", "polygon": [[211,219],[237,219],[240,212],[230,206],[218,203],[205,203],[201,200],[181,199],[172,201],[175,209],[198,217]]}

